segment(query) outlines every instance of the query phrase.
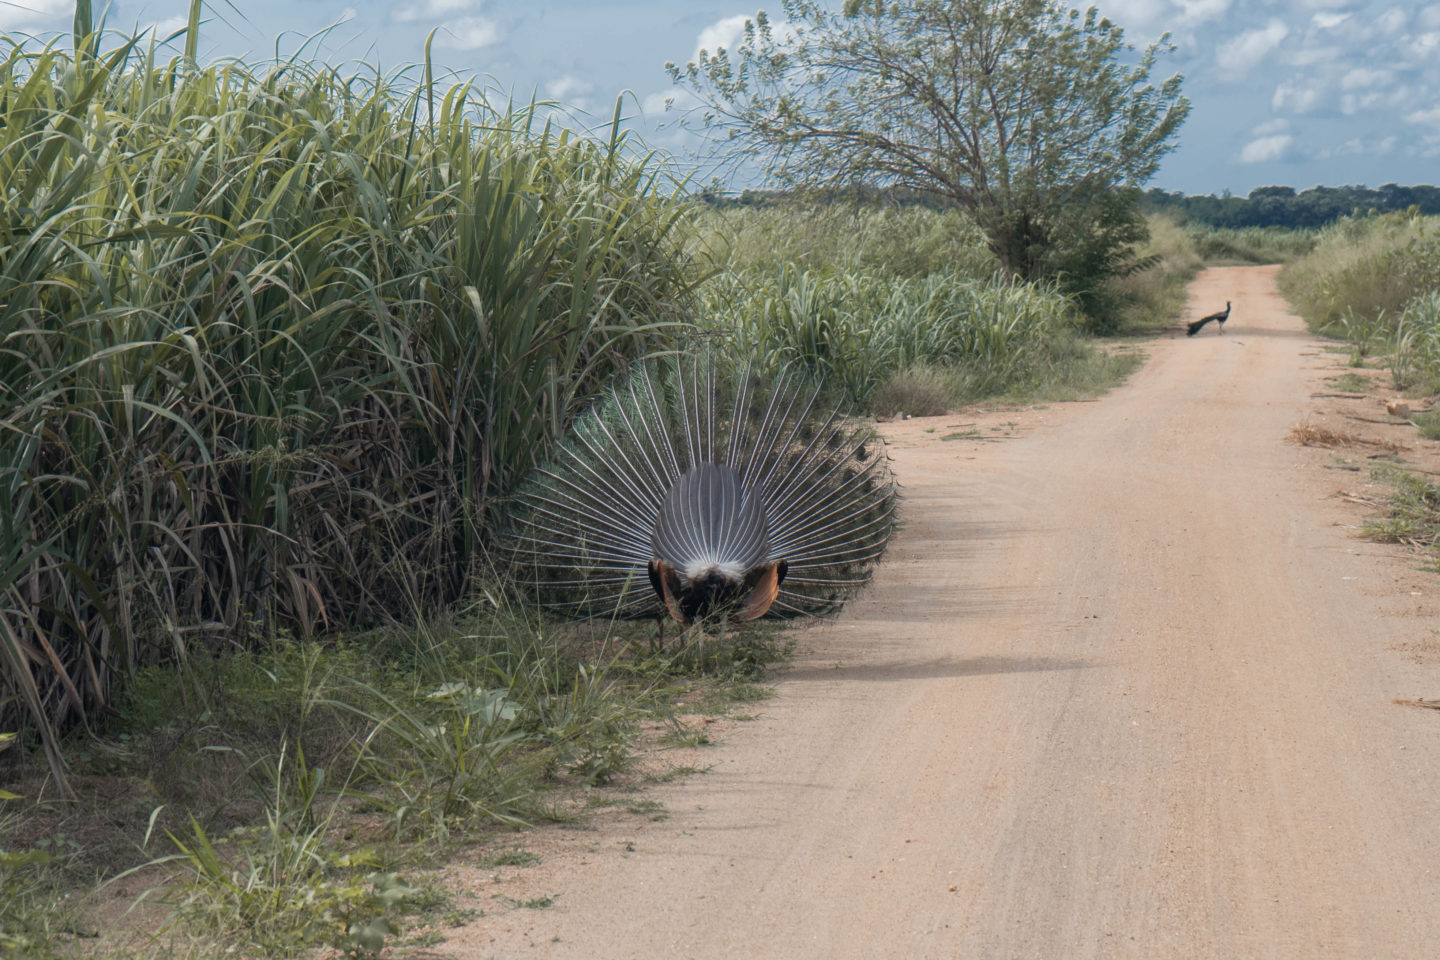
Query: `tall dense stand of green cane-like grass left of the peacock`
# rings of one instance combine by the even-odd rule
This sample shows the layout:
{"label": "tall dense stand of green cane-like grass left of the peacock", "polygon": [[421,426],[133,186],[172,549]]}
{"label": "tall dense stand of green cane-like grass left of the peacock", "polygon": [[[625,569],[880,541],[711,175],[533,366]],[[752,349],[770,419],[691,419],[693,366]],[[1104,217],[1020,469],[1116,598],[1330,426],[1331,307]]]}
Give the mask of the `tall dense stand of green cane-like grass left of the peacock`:
{"label": "tall dense stand of green cane-like grass left of the peacock", "polygon": [[58,774],[145,662],[456,597],[691,296],[618,114],[573,137],[428,63],[0,39],[0,723]]}

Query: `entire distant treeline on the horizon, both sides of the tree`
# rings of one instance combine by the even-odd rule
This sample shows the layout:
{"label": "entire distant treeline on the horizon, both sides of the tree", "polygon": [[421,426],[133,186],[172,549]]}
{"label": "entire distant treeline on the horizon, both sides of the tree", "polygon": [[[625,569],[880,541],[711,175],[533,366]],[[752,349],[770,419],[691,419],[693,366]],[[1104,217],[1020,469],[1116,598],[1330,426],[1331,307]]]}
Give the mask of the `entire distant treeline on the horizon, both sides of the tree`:
{"label": "entire distant treeline on the horizon, both sides of the tree", "polygon": [[[864,206],[929,207],[932,210],[953,209],[955,203],[933,194],[904,189],[876,189],[867,186],[845,187],[811,193],[788,190],[746,190],[726,196],[717,186],[700,191],[700,199],[719,207],[768,207],[793,203],[801,199],[812,201],[847,201]],[[1392,213],[1416,207],[1420,213],[1440,213],[1440,187],[1417,184],[1401,187],[1387,183],[1382,187],[1256,187],[1247,197],[1233,197],[1228,193],[1184,194],[1168,193],[1159,187],[1138,194],[1143,213],[1169,213],[1185,223],[1202,223],[1214,227],[1319,227],[1341,217],[1365,213]]]}

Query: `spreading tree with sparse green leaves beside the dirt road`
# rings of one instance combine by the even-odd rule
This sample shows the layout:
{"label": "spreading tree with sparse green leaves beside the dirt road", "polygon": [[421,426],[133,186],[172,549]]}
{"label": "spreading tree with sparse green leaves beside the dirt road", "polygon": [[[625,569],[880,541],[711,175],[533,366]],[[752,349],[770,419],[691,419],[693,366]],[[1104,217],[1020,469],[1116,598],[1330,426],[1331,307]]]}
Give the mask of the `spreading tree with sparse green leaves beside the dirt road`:
{"label": "spreading tree with sparse green leaves beside the dirt road", "polygon": [[734,50],[665,65],[734,155],[786,186],[946,197],[1024,278],[1064,276],[1077,245],[1117,269],[1143,239],[1138,187],[1189,111],[1178,75],[1151,82],[1168,37],[1132,56],[1119,26],[1057,0],[782,4],[785,23],[757,13]]}

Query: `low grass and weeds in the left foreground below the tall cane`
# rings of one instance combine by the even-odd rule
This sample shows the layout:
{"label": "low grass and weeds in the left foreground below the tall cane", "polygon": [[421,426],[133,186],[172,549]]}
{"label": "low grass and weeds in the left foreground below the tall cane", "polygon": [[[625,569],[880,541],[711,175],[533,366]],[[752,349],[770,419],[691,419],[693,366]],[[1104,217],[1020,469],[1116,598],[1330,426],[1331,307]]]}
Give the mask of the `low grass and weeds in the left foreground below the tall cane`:
{"label": "low grass and weeds in the left foreground below the tall cane", "polygon": [[697,773],[639,766],[641,740],[707,743],[696,715],[752,710],[786,652],[769,629],[704,655],[652,639],[481,603],[141,671],[68,751],[71,800],[35,767],[9,780],[27,803],[3,822],[0,956],[433,943],[485,908],[445,888],[449,858],[537,862],[526,826]]}

